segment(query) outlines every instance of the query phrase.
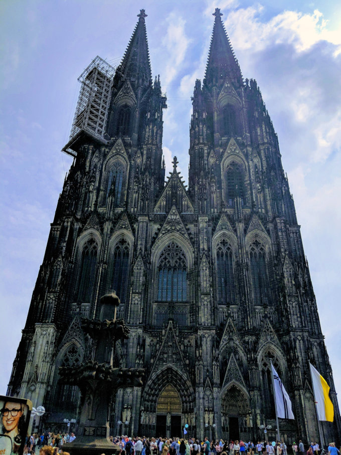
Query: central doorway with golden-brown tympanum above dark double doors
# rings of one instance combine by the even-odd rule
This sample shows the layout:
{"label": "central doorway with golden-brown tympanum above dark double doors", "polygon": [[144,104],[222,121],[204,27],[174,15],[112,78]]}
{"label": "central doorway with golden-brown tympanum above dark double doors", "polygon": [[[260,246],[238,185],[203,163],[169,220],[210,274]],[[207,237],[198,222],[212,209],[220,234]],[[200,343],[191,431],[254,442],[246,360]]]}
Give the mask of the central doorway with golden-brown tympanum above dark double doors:
{"label": "central doorway with golden-brown tympanum above dark double doors", "polygon": [[181,434],[181,399],[172,384],[159,394],[156,405],[156,435],[170,437]]}

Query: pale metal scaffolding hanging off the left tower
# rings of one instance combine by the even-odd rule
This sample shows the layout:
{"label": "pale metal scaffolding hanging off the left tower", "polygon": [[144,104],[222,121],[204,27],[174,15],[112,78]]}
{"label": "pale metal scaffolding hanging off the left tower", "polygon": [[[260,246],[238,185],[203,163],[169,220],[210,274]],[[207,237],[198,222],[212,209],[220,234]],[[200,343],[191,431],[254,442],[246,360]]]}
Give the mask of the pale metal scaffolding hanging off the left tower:
{"label": "pale metal scaffolding hanging off the left tower", "polygon": [[69,147],[82,131],[103,139],[108,118],[115,68],[97,56],[79,76],[81,83],[71,134],[64,151],[75,156]]}

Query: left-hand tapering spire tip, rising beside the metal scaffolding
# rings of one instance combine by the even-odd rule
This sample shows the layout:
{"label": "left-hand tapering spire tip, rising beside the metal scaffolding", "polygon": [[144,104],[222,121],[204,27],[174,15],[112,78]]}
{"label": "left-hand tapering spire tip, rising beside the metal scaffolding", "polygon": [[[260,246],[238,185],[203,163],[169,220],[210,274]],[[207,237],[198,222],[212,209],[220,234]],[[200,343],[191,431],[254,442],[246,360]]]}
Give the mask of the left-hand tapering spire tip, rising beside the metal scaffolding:
{"label": "left-hand tapering spire tip, rising beside the metal scaffolding", "polygon": [[137,15],[138,22],[132,33],[127,49],[124,53],[120,72],[129,79],[151,81],[151,68],[148,51],[147,32],[145,28],[145,10]]}

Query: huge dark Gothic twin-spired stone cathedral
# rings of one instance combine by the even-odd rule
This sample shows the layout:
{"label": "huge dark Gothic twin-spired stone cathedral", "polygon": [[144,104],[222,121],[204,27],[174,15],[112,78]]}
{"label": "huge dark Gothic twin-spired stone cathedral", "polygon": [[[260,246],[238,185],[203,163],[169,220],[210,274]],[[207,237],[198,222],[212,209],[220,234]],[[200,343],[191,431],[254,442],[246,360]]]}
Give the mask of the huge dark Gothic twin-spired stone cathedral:
{"label": "huge dark Gothic twin-spired stone cathedral", "polygon": [[[144,10],[121,63],[96,57],[81,83],[73,156],[33,291],[8,394],[47,410],[34,429],[77,429],[80,391],[60,366],[91,352],[81,318],[115,290],[130,329],[114,363],[144,368],[142,388],[118,389],[111,434],[276,439],[271,362],[292,401],[288,443],[319,440],[309,375],[331,367],[300,226],[261,92],[243,79],[219,9],[203,82],[195,83],[188,188],[165,179],[162,112]],[[184,121],[187,121],[184,119]]]}

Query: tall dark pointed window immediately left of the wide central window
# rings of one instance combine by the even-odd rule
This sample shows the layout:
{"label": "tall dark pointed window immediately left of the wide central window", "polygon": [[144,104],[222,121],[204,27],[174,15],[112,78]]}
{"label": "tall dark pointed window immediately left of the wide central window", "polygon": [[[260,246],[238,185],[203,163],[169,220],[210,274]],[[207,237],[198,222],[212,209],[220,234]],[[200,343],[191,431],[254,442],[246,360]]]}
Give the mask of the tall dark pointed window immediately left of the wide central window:
{"label": "tall dark pointed window immediately left of the wide central window", "polygon": [[126,302],[129,274],[129,244],[125,239],[116,243],[111,262],[109,288],[116,291],[122,304]]}

